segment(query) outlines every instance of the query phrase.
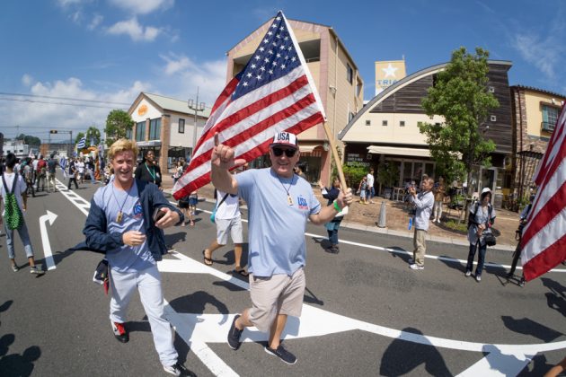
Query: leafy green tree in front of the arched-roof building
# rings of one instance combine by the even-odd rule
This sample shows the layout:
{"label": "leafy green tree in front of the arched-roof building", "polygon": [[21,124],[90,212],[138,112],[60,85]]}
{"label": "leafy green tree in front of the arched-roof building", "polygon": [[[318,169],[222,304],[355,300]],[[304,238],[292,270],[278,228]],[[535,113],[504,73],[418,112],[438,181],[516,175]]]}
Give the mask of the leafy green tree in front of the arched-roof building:
{"label": "leafy green tree in front of the arched-roof building", "polygon": [[[445,119],[444,124],[426,123],[419,128],[427,136],[432,159],[447,178],[467,176],[471,182],[473,165],[491,166],[495,144],[481,130],[490,110],[499,107],[487,86],[489,56],[482,48],[476,48],[474,55],[463,47],[456,49],[421,102],[429,117]],[[468,196],[472,190],[468,184]]]}

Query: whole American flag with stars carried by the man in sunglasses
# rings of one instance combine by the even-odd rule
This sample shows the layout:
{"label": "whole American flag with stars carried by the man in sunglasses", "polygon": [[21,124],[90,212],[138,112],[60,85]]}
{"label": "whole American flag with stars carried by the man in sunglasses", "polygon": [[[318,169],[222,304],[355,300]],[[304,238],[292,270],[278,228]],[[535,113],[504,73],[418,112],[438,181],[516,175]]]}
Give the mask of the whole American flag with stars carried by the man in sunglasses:
{"label": "whole American flag with stars carried by the man in sunglasses", "polygon": [[279,11],[243,71],[220,93],[173,197],[186,197],[210,182],[215,133],[234,148],[235,158],[251,161],[268,152],[276,132],[299,134],[324,118],[305,57]]}

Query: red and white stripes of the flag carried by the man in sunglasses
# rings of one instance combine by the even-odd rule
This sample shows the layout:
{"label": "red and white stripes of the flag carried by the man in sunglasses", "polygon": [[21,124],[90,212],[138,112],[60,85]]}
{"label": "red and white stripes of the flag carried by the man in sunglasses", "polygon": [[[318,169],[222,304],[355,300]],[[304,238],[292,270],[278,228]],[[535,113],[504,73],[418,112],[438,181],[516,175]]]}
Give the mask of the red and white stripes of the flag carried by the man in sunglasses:
{"label": "red and white stripes of the flag carried by the man in sunglasses", "polygon": [[187,171],[173,187],[175,199],[210,182],[210,157],[216,133],[220,143],[234,148],[236,159],[252,161],[268,152],[275,133],[299,134],[324,121],[314,81],[287,20],[286,23],[302,64],[235,101],[231,95],[238,79],[234,77],[226,85],[215,102]]}

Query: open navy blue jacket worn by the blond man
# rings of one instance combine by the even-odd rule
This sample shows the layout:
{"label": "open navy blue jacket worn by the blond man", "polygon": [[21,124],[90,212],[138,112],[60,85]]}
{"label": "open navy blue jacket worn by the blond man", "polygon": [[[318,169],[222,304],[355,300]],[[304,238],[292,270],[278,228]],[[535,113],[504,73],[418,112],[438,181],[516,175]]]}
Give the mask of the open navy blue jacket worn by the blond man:
{"label": "open navy blue jacket worn by the blond man", "polygon": [[[162,255],[167,253],[165,245],[164,231],[155,226],[153,214],[156,208],[166,206],[167,208],[179,214],[179,223],[184,221],[181,211],[167,201],[164,194],[150,182],[142,182],[136,180],[139,201],[143,208],[144,215],[144,231],[146,232],[147,247],[151,251],[155,261],[161,260]],[[110,183],[112,184],[112,183]],[[102,212],[102,208],[91,200],[91,210],[84,224],[84,236],[86,241],[81,243],[73,250],[92,250],[106,253],[108,250],[114,250],[124,245],[122,241],[122,233],[108,233],[106,224],[106,215]]]}

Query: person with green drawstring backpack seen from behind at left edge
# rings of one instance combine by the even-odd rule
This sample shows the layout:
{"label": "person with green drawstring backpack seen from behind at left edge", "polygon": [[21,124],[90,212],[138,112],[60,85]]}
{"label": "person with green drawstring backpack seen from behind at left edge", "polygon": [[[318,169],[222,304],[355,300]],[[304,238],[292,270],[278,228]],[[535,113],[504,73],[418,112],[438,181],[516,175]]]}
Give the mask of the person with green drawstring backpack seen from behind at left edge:
{"label": "person with green drawstring backpack seen from behind at left edge", "polygon": [[35,275],[43,275],[44,271],[41,266],[36,266],[33,259],[33,249],[31,248],[30,234],[28,227],[23,218],[23,212],[26,210],[28,197],[26,195],[26,184],[22,176],[15,173],[13,168],[16,163],[16,157],[13,153],[6,156],[6,170],[2,174],[2,184],[0,185],[0,196],[4,201],[4,211],[2,217],[4,220],[4,231],[6,232],[6,249],[8,250],[8,258],[12,263],[13,272],[17,272],[20,267],[15,262],[15,253],[13,250],[13,231],[18,231],[22,240],[25,254],[30,263],[30,272]]}

